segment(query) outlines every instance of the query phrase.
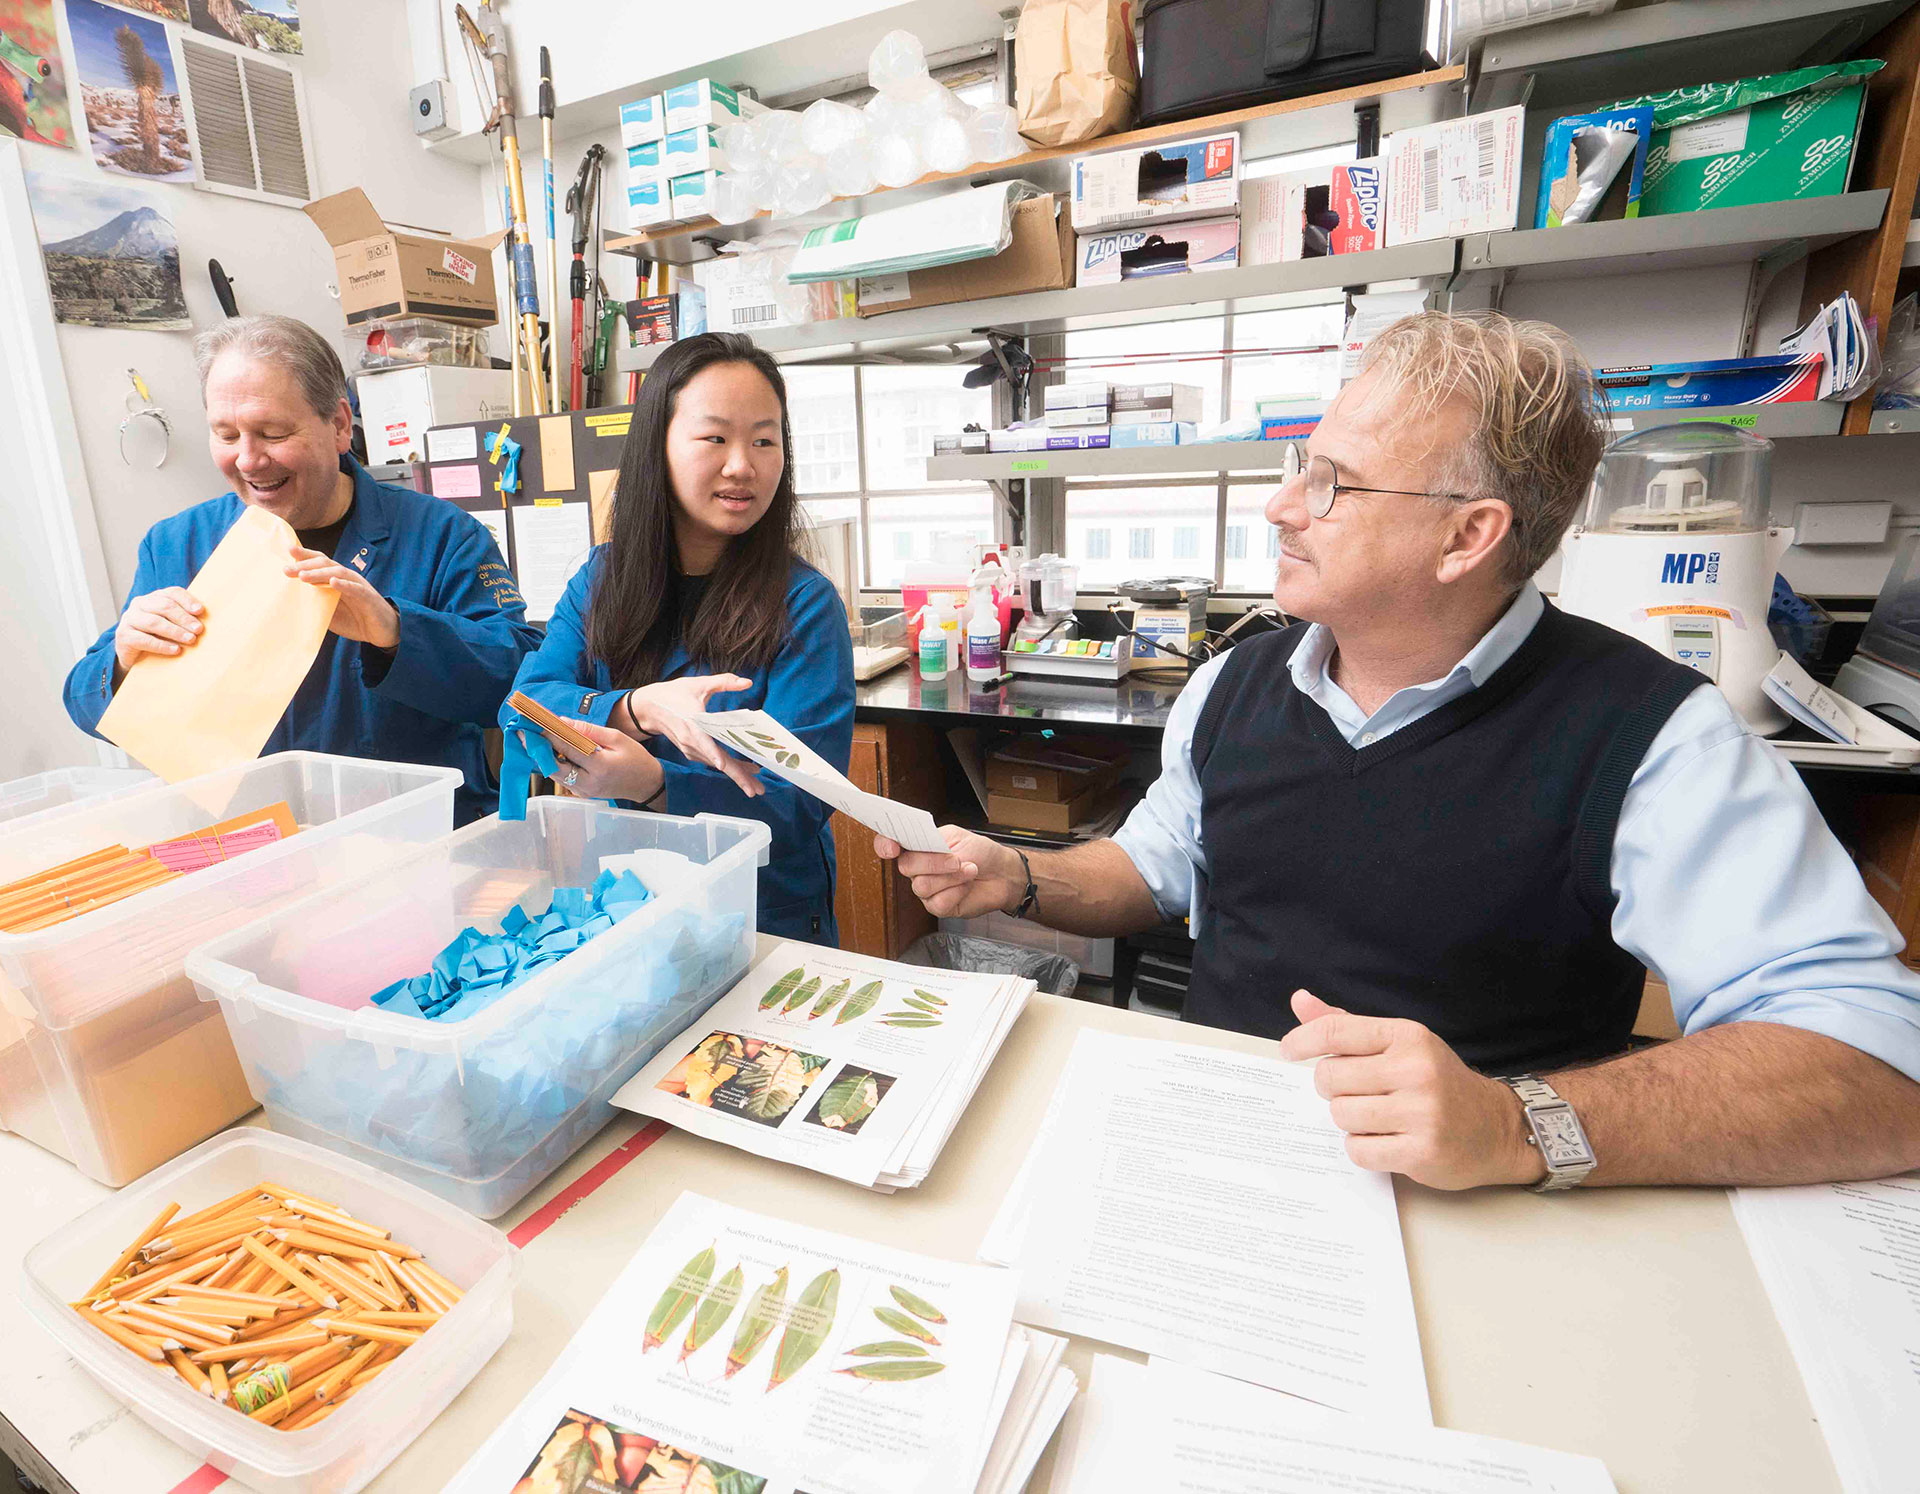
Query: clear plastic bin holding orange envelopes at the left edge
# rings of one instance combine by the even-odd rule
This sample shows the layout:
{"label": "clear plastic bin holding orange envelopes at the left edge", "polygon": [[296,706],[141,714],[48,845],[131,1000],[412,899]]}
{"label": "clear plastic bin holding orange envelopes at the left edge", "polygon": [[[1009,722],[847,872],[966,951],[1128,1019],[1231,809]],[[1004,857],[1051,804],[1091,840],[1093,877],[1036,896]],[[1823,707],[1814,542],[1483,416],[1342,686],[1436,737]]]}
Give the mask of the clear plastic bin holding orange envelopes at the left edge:
{"label": "clear plastic bin holding orange envelopes at the left edge", "polygon": [[300,833],[38,933],[0,933],[0,1127],[121,1187],[253,1108],[186,952],[453,826],[455,768],[278,753],[0,826],[0,883],[282,799]]}

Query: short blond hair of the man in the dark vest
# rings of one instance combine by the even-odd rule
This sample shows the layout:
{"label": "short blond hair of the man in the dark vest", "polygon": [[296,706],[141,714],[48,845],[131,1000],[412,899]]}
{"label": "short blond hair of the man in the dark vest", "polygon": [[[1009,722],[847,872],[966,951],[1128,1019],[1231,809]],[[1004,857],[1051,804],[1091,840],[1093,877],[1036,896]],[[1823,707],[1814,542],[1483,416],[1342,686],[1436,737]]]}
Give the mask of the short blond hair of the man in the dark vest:
{"label": "short blond hair of the man in the dark vest", "polygon": [[1607,444],[1594,369],[1557,326],[1498,311],[1402,317],[1367,346],[1371,369],[1392,380],[1402,417],[1469,403],[1473,430],[1440,453],[1436,486],[1507,505],[1501,578],[1524,584],[1551,559]]}

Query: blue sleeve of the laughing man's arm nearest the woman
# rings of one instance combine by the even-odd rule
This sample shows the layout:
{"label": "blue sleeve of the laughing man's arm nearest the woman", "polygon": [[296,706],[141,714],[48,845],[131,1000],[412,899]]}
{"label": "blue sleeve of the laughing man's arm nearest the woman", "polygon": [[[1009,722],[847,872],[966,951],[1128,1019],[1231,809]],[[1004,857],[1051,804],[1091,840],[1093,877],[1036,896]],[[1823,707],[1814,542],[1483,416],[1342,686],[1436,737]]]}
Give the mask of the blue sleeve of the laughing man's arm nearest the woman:
{"label": "blue sleeve of the laughing man's arm nearest the woman", "polygon": [[388,597],[399,645],[359,647],[361,682],[415,711],[492,726],[520,661],[540,645],[493,536],[467,524],[440,555],[426,601]]}

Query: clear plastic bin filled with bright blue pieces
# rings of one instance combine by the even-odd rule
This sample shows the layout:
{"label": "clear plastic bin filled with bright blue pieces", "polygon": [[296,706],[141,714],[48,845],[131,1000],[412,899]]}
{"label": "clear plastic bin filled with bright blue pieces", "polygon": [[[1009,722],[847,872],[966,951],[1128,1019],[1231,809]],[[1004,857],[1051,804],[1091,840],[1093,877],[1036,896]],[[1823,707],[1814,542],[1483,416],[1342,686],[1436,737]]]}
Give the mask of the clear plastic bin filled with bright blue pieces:
{"label": "clear plastic bin filled with bright blue pieces", "polygon": [[[758,820],[693,820],[534,799],[476,820],[353,887],[204,943],[186,962],[219,1000],[276,1131],[438,1193],[484,1219],[513,1208],[612,1118],[612,1095],[753,960]],[[641,870],[637,912],[467,1022],[371,997],[428,970],[461,929],[545,910],[601,856],[685,856]]]}

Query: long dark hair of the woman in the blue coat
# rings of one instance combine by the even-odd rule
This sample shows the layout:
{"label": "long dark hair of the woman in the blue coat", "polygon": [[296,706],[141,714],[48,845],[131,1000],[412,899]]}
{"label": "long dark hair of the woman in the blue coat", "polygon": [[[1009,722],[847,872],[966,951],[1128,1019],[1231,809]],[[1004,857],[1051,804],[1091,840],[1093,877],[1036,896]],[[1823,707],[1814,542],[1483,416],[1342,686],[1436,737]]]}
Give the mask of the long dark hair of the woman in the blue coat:
{"label": "long dark hair of the woman in the blue coat", "polygon": [[780,399],[780,486],[760,522],[733,536],[687,624],[687,655],[703,670],[758,674],[787,630],[787,580],[799,549],[801,505],[793,495],[793,426],[780,365],[739,332],[703,332],[676,342],[639,386],[634,426],[620,455],[607,555],[588,603],[588,647],[616,687],[653,684],[674,647],[674,482],[666,426],[687,380],[718,363],[751,363]]}

